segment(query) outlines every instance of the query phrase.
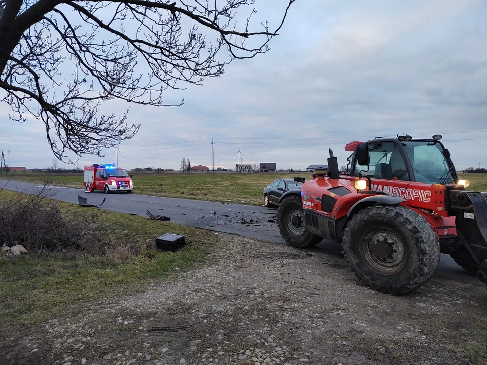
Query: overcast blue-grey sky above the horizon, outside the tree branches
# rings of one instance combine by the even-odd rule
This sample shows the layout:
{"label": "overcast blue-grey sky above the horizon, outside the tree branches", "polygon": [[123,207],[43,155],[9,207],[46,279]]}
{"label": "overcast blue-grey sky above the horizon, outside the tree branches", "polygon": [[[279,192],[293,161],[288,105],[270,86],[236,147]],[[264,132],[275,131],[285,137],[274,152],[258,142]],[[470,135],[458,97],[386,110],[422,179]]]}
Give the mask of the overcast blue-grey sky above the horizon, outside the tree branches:
{"label": "overcast blue-grey sky above the horizon, outside the tree branches", "polygon": [[[256,2],[258,20],[275,27],[287,1]],[[268,53],[166,92],[166,102],[184,98],[183,106],[130,105],[129,121],[141,128],[120,145],[119,165],[179,169],[186,157],[211,168],[212,137],[215,168],[235,168],[240,143],[244,163],[305,168],[326,163],[332,148],[344,165],[346,143],[405,132],[442,134],[457,168],[487,167],[486,18],[484,0],[297,0]],[[115,101],[102,110],[126,107]],[[43,123],[7,114],[0,104],[10,165],[50,166]],[[115,149],[105,153],[79,166],[116,161]]]}

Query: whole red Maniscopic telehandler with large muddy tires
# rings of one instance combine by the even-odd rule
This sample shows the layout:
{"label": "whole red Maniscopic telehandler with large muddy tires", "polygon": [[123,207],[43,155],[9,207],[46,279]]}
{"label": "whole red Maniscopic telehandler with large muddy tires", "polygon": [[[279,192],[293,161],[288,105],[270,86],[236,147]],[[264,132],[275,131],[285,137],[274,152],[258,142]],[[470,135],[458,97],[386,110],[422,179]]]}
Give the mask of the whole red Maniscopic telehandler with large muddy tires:
{"label": "whole red Maniscopic telehandler with large muddy tires", "polygon": [[282,237],[298,248],[341,243],[357,278],[382,293],[425,284],[440,253],[487,284],[486,193],[466,190],[440,139],[351,142],[349,172],[341,174],[330,149],[327,170],[281,197]]}

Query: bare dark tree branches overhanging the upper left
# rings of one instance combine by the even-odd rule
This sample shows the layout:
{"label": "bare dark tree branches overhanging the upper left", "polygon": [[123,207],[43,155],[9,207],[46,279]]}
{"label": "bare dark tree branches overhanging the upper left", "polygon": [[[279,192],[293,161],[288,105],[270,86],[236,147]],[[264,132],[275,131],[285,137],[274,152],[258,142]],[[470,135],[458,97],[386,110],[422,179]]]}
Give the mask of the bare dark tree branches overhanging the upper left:
{"label": "bare dark tree branches overhanging the upper left", "polygon": [[[99,113],[102,101],[182,105],[165,104],[163,92],[265,53],[294,1],[275,30],[262,22],[251,31],[255,9],[238,27],[235,16],[255,0],[0,0],[0,97],[11,119],[44,122],[58,159],[69,151],[101,156],[140,127],[126,123],[128,109]],[[222,48],[228,57],[217,59]]]}

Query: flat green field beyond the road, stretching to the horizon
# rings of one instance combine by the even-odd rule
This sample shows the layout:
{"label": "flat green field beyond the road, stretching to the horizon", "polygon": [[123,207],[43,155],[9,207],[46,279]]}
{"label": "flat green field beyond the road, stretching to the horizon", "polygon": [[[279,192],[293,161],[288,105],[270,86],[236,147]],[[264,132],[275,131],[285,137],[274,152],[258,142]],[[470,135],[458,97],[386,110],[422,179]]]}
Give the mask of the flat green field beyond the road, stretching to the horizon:
{"label": "flat green field beyond the road, stretching to the horizon", "polygon": [[[181,174],[181,173],[134,173],[134,194],[155,195],[172,198],[200,199],[217,202],[233,202],[261,205],[263,189],[277,178],[295,176],[311,178],[310,173],[285,174]],[[462,177],[460,175],[460,177]],[[74,188],[83,187],[83,174],[19,173],[12,179],[43,182],[53,179],[53,184]],[[487,191],[487,174],[465,174],[470,181],[469,190]]]}

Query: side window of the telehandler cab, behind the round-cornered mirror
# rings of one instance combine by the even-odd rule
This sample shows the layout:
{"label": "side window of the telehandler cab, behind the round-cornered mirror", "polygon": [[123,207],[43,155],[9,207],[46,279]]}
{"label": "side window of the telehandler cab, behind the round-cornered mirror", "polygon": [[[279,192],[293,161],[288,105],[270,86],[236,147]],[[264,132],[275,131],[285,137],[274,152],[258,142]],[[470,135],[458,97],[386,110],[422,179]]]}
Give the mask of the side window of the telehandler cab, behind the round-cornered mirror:
{"label": "side window of the telehandler cab, behind the round-cornered mirror", "polygon": [[369,143],[368,146],[370,164],[362,166],[355,161],[354,176],[362,172],[370,178],[392,180],[396,177],[398,180],[409,181],[406,164],[396,143],[378,142]]}

